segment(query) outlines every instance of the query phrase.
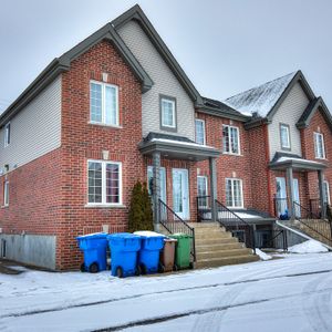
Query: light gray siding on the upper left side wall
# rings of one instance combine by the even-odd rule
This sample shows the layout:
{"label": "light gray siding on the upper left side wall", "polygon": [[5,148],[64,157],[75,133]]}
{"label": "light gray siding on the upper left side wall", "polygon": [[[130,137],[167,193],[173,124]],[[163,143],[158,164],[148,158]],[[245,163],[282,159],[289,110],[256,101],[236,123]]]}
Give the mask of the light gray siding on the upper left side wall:
{"label": "light gray siding on the upper left side wall", "polygon": [[10,145],[0,129],[0,167],[20,167],[61,145],[61,76],[10,121]]}

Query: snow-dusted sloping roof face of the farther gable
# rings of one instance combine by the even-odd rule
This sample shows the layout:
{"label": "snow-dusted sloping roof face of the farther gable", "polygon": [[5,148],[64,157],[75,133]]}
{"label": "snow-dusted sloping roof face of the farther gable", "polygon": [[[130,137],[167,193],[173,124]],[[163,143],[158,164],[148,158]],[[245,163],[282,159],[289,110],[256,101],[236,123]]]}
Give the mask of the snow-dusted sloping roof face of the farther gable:
{"label": "snow-dusted sloping roof face of the farther gable", "polygon": [[257,87],[241,92],[224,101],[225,104],[241,112],[243,115],[257,113],[266,117],[276,105],[297,72],[276,79]]}

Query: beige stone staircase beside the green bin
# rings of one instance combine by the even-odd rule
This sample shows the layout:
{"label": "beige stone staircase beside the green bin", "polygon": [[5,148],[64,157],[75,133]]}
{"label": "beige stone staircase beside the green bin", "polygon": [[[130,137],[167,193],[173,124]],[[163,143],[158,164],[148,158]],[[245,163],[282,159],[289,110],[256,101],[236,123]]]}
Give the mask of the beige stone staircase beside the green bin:
{"label": "beige stone staircase beside the green bin", "polygon": [[188,222],[195,228],[195,267],[212,268],[259,260],[251,249],[240,243],[218,222]]}

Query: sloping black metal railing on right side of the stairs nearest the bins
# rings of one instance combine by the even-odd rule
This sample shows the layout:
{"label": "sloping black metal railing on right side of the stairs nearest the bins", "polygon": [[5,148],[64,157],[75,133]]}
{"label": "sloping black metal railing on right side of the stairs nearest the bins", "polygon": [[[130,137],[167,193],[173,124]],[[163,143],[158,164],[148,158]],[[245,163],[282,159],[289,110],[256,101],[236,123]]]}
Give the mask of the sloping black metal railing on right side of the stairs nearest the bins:
{"label": "sloping black metal railing on right side of the stairs nearest the bins", "polygon": [[225,227],[235,237],[243,242],[247,248],[251,248],[256,252],[256,236],[253,226],[245,221],[224,204],[216,199],[217,221]]}

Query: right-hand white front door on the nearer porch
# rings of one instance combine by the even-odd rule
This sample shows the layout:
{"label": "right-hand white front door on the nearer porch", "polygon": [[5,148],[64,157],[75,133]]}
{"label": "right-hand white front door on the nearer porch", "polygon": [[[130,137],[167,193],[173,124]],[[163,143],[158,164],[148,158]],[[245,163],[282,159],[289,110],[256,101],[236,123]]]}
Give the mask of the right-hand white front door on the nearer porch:
{"label": "right-hand white front door on the nearer porch", "polygon": [[188,170],[173,168],[173,210],[184,220],[189,219]]}

